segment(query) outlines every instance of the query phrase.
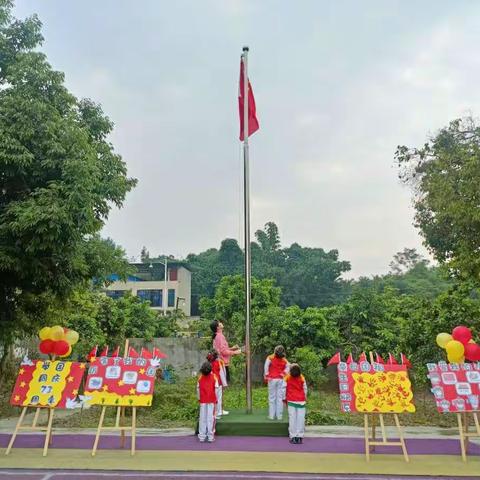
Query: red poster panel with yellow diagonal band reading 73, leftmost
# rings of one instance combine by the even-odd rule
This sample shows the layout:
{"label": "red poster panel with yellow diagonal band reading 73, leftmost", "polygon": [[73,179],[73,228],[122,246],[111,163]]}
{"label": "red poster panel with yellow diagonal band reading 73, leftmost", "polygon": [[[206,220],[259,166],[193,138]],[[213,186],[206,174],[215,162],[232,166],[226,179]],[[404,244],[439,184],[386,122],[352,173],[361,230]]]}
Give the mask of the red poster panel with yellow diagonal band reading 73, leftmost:
{"label": "red poster panel with yellow diagonal band reading 73, leftmost", "polygon": [[10,404],[18,407],[76,408],[85,364],[24,359]]}

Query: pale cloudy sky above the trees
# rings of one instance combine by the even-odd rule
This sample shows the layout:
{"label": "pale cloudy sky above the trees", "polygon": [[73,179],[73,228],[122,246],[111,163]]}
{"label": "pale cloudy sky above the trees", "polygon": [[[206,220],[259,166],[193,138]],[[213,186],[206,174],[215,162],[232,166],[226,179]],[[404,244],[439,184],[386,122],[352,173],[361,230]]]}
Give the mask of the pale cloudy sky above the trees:
{"label": "pale cloudy sky above the trees", "polygon": [[17,0],[67,87],[99,102],[138,186],[103,230],[129,256],[242,244],[238,75],[249,77],[252,232],[338,249],[347,277],[382,274],[413,226],[397,145],[480,110],[473,0]]}

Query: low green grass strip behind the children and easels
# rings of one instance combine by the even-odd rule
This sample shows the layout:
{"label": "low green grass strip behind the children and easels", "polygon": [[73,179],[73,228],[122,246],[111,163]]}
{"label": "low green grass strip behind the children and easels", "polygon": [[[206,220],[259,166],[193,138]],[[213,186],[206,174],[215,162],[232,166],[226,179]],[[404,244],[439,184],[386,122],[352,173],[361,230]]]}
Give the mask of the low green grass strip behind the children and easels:
{"label": "low green grass strip behind the children and easels", "polygon": [[[253,407],[267,407],[267,388],[255,387],[253,390]],[[437,412],[433,396],[429,392],[416,395],[415,414],[401,416],[403,425],[451,427],[456,425],[454,415],[441,415]],[[245,408],[245,391],[242,386],[234,385],[225,391],[225,407],[227,409]],[[156,386],[154,402],[151,408],[139,408],[137,414],[138,427],[175,428],[191,427],[197,421],[197,401],[195,397],[195,380],[182,381],[177,384],[162,383]],[[108,408],[106,424],[114,422],[116,409]],[[98,424],[100,407],[88,410],[67,418],[58,419],[57,427],[94,428]],[[330,390],[310,390],[308,398],[308,425],[354,425],[363,426],[363,415],[343,414],[340,412],[338,393]]]}

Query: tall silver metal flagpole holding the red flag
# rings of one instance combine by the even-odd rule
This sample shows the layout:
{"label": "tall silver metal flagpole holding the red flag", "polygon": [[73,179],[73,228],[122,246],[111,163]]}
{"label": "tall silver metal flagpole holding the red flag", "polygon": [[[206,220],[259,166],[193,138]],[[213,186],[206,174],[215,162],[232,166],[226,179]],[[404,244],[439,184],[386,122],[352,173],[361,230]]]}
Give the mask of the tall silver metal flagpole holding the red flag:
{"label": "tall silver metal flagpole holding the red flag", "polygon": [[247,413],[252,413],[252,364],[250,354],[251,252],[250,252],[250,162],[248,156],[248,47],[243,47],[243,195],[245,234],[245,356]]}

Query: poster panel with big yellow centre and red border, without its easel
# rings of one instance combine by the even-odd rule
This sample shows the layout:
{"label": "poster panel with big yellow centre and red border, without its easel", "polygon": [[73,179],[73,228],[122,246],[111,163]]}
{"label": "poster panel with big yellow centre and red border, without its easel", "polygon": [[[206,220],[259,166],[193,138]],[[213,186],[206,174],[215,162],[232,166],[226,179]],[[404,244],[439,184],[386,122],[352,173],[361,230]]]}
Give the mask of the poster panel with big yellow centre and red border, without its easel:
{"label": "poster panel with big yellow centre and red border, without its easel", "polygon": [[337,367],[342,412],[414,412],[406,365],[340,362]]}

